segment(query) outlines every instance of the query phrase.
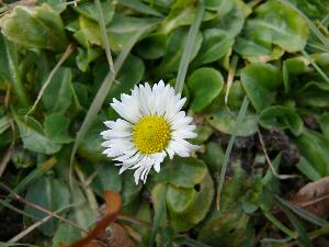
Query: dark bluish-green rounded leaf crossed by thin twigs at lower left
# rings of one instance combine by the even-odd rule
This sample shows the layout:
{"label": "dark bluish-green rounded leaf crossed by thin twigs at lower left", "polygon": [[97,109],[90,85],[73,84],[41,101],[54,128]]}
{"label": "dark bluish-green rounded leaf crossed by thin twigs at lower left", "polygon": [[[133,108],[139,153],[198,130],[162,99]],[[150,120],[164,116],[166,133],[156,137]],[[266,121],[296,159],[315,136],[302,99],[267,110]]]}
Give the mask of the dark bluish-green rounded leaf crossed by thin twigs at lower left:
{"label": "dark bluish-green rounded leaf crossed by thin twigs at lower left", "polygon": [[[26,192],[26,200],[48,211],[57,211],[69,204],[70,193],[68,187],[60,180],[43,176],[32,183]],[[27,206],[26,213],[38,218],[47,216],[46,213]],[[58,220],[52,218],[39,226],[39,231],[46,236],[53,236]]]}

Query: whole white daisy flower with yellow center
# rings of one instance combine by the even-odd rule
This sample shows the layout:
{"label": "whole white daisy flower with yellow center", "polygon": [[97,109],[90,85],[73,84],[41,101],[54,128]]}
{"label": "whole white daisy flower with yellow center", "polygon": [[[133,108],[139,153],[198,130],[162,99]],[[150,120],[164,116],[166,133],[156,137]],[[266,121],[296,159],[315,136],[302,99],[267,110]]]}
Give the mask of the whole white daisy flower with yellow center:
{"label": "whole white daisy flower with yellow center", "polygon": [[151,168],[160,171],[160,164],[168,155],[190,156],[198,146],[185,139],[196,137],[192,117],[181,111],[186,99],[175,94],[162,80],[151,88],[148,83],[135,86],[132,94],[123,93],[121,101],[114,99],[111,106],[122,116],[105,121],[109,130],[101,135],[107,157],[121,166],[120,173],[136,169],[134,177],[146,182]]}

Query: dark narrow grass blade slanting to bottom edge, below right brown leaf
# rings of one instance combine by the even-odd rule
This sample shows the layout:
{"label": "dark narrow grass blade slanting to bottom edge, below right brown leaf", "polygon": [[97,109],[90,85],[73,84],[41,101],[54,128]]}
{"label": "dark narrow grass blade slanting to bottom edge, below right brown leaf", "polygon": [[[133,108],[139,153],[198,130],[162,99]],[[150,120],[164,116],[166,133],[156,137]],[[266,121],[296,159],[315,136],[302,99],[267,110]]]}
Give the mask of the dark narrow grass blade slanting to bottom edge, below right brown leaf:
{"label": "dark narrow grass blade slanting to bottom edge, below right brown leaf", "polygon": [[284,201],[280,197],[275,195],[275,198],[276,198],[277,202],[280,203],[282,211],[290,218],[291,223],[293,224],[295,229],[298,232],[297,240],[300,243],[300,245],[304,247],[313,247],[306,231],[304,229],[303,225],[297,220],[297,217],[290,211],[290,209],[284,204]]}

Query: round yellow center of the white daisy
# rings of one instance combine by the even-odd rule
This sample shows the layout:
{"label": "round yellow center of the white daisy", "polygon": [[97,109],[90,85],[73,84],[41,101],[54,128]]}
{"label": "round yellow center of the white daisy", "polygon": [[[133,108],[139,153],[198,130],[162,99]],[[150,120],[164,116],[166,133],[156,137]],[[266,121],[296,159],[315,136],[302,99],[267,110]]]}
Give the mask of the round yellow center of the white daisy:
{"label": "round yellow center of the white daisy", "polygon": [[161,116],[145,116],[134,126],[133,139],[141,154],[162,151],[168,146],[170,137],[170,125]]}

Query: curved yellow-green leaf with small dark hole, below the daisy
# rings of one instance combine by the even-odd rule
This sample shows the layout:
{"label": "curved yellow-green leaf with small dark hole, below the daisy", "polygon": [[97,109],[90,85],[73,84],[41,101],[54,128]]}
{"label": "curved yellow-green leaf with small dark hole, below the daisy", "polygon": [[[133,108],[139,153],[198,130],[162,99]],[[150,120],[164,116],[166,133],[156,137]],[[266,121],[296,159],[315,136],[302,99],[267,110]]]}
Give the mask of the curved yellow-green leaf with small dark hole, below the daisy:
{"label": "curved yellow-green leaf with small dark hole, below the daisy", "polygon": [[214,184],[207,170],[194,188],[168,186],[167,206],[172,227],[185,232],[195,226],[208,212],[213,197]]}

